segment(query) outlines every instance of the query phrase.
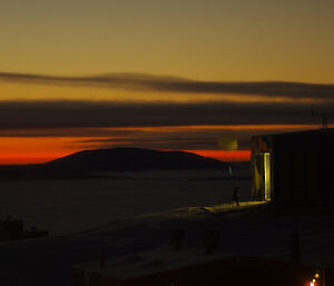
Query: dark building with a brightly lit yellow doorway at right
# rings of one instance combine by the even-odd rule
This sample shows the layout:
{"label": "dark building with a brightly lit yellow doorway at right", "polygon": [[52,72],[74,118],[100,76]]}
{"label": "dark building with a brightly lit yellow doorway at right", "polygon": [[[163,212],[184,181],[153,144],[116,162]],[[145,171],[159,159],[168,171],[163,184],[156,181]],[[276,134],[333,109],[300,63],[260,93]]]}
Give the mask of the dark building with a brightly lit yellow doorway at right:
{"label": "dark building with a brightly lit yellow doorway at right", "polygon": [[334,205],[334,129],[252,138],[252,197],[274,205]]}

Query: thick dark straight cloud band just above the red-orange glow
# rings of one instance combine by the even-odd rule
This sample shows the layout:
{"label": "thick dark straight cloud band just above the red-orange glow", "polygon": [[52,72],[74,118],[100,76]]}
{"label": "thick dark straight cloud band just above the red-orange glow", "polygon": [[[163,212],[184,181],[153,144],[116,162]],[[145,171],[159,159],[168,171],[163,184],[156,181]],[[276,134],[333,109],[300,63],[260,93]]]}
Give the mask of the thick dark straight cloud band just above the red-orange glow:
{"label": "thick dark straight cloud band just above the red-orange glow", "polygon": [[[334,114],[334,107],[316,110]],[[116,103],[109,101],[0,101],[0,128],[87,128],[188,125],[313,125],[310,105]],[[331,122],[331,118],[330,118]]]}

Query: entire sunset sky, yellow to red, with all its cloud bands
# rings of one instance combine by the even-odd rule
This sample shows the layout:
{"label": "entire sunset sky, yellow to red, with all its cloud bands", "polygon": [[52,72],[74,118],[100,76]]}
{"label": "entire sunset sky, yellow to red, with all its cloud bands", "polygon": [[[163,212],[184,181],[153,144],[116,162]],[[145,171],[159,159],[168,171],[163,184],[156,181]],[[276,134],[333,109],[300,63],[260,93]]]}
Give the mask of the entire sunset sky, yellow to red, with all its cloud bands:
{"label": "entire sunset sky, yellow to red, with all its cloud bands", "polygon": [[[332,0],[3,0],[0,164],[111,147],[246,160],[253,135],[318,128],[311,103],[334,114],[333,11]],[[232,137],[238,150],[225,151]]]}

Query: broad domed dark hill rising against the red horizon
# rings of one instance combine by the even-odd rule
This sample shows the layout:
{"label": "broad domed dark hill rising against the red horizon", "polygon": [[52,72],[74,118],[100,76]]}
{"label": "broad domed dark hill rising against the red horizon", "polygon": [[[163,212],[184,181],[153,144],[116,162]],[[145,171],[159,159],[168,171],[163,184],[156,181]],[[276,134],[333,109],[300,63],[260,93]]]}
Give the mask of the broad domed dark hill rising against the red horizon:
{"label": "broad domed dark hill rising against the red horizon", "polygon": [[139,148],[84,150],[43,165],[80,171],[225,169],[227,167],[225,162],[191,152]]}

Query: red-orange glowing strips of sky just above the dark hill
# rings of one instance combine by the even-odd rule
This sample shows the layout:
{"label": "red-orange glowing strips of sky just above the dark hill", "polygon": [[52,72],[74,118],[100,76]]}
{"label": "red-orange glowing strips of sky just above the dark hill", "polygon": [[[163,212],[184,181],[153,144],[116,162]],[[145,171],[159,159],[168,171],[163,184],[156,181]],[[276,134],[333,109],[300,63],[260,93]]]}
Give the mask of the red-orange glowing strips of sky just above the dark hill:
{"label": "red-orange glowing strips of sky just above the dark hill", "polygon": [[[334,126],[331,125],[331,128]],[[23,165],[39,164],[57,159],[85,149],[112,148],[112,147],[143,147],[140,146],[140,136],[153,136],[156,138],[156,146],[159,149],[160,144],[168,145],[168,136],[205,134],[218,137],[224,132],[243,134],[252,136],[253,134],[274,134],[284,131],[296,131],[306,129],[318,129],[318,125],[217,125],[217,126],[157,126],[157,127],[115,127],[115,128],[68,128],[51,129],[50,134],[55,136],[42,136],[47,134],[46,129],[27,130],[0,130],[0,165]],[[116,136],[118,139],[112,142],[111,136],[106,137],[105,131],[139,131],[128,137]],[[143,134],[140,132],[143,131]],[[12,134],[9,137],[6,134]],[[38,135],[41,134],[39,137]],[[17,136],[14,136],[17,135]],[[31,135],[31,137],[30,137]],[[36,136],[37,135],[37,136]],[[111,132],[112,135],[112,132]],[[167,137],[166,137],[166,136]],[[161,140],[159,138],[161,136]],[[190,136],[190,137],[191,137]],[[187,138],[187,136],[185,136]],[[119,139],[122,140],[119,140]],[[104,141],[106,139],[106,141]],[[109,141],[108,141],[109,140]],[[185,139],[186,140],[186,139]],[[145,140],[143,142],[145,148]],[[203,148],[203,147],[199,147]],[[218,148],[218,146],[217,146]],[[203,149],[185,151],[195,152],[202,156],[212,157],[223,161],[246,161],[250,159],[250,150],[212,150]]]}

